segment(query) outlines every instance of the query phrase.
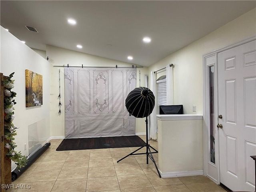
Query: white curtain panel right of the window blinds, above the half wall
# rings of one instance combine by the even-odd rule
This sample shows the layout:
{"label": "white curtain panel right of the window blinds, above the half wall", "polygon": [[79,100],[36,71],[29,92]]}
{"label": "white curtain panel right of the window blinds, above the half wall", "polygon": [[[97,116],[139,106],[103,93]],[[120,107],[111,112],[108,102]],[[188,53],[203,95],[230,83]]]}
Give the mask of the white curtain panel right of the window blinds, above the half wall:
{"label": "white curtain panel right of the window blinds, above the half wall", "polygon": [[173,67],[170,64],[166,66],[166,104],[174,104],[173,96]]}

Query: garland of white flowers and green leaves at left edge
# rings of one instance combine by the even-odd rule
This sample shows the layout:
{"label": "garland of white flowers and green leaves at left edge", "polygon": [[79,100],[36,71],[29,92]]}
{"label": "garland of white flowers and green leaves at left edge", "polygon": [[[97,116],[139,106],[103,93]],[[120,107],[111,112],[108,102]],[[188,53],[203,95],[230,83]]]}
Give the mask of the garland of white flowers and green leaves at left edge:
{"label": "garland of white flowers and green leaves at left edge", "polygon": [[21,152],[16,152],[14,148],[16,147],[16,143],[13,141],[14,136],[17,135],[16,129],[17,127],[12,123],[14,120],[14,107],[16,104],[14,97],[16,97],[16,93],[12,92],[11,89],[14,88],[14,80],[11,78],[13,74],[10,74],[9,77],[4,79],[4,147],[8,148],[8,152],[6,156],[15,162],[17,168],[22,168],[26,165],[27,157],[23,156]]}

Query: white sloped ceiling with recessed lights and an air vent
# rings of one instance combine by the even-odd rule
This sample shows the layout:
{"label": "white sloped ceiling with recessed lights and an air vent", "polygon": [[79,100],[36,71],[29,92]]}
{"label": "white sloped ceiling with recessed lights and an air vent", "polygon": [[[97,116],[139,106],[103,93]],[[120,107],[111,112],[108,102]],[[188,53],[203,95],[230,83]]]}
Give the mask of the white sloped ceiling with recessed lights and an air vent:
{"label": "white sloped ceiling with recessed lights and an air vent", "polygon": [[[10,1],[0,24],[31,48],[46,44],[150,66],[256,6],[256,1]],[[75,26],[68,18],[77,21]],[[24,25],[38,30],[28,31]],[[152,38],[145,44],[142,38]],[[76,48],[77,44],[83,46]],[[112,45],[112,46],[111,46]],[[127,60],[127,56],[133,60]]]}

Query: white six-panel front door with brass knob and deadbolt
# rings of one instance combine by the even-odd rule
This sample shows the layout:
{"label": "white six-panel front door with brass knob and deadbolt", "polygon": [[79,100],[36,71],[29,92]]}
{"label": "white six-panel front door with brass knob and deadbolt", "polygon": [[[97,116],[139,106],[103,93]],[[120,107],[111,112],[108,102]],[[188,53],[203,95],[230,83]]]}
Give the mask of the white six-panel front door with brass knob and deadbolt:
{"label": "white six-panel front door with brass knob and deadbolt", "polygon": [[220,182],[255,190],[256,41],[218,53]]}

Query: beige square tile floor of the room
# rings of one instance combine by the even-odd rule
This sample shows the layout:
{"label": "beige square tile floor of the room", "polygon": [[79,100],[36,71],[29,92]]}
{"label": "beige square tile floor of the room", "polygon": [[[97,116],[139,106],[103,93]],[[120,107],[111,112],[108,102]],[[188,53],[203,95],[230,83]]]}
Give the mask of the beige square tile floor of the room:
{"label": "beige square tile floor of the room", "polygon": [[[146,155],[116,162],[137,147],[56,151],[61,141],[51,140],[50,148],[12,183],[16,189],[7,192],[226,192],[204,176],[159,178]],[[158,149],[156,141],[149,144]],[[154,158],[157,162],[158,154]]]}

